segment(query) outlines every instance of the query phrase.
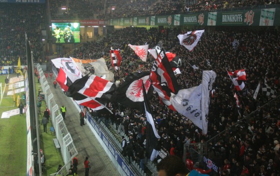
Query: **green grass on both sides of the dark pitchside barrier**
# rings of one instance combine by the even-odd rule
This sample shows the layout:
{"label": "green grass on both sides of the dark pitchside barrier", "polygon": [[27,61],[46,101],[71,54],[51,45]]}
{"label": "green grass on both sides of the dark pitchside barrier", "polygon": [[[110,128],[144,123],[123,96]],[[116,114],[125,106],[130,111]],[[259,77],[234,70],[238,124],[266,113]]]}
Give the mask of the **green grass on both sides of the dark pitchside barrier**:
{"label": "green grass on both sides of the dark pitchside barrier", "polygon": [[[14,105],[13,96],[7,96],[8,86],[4,90],[4,79],[7,75],[0,76],[2,82],[2,91],[4,92],[3,99],[0,104],[0,116],[3,112],[18,109]],[[9,75],[9,78],[16,77],[16,75]],[[37,82],[37,81],[36,81]],[[36,93],[38,92],[39,84],[36,83]],[[16,94],[22,95],[23,92]],[[45,101],[42,101],[41,115],[39,120],[42,119],[43,112],[46,108]],[[56,173],[58,164],[63,165],[62,156],[59,150],[53,144],[53,138],[56,135],[50,132],[51,120],[48,123],[48,132],[43,132],[43,126],[40,125],[40,147],[44,152],[45,166],[43,168],[43,176],[49,176]],[[26,117],[24,116],[11,116],[10,118],[0,118],[0,176],[26,176],[26,160],[27,160],[27,130],[26,130]]]}

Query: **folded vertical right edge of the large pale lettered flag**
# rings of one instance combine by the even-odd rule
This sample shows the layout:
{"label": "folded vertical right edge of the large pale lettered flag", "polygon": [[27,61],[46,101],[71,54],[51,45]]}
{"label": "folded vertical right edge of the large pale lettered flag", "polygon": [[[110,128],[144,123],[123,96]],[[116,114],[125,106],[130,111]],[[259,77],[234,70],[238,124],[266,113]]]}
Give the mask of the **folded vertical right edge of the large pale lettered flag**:
{"label": "folded vertical right edge of the large pale lettered flag", "polygon": [[209,92],[212,90],[212,84],[215,81],[216,73],[214,71],[203,71],[202,73],[202,125],[203,134],[207,134],[208,112],[209,112]]}

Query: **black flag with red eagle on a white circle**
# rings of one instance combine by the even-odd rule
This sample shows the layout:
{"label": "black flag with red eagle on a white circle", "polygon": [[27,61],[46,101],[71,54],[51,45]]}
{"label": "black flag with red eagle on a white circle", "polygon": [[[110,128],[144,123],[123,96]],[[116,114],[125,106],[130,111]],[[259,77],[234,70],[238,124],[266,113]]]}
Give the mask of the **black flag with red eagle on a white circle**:
{"label": "black flag with red eagle on a white circle", "polygon": [[145,90],[148,92],[150,87],[149,72],[133,73],[127,76],[112,95],[112,102],[118,102],[125,107],[144,112],[142,82],[144,82]]}

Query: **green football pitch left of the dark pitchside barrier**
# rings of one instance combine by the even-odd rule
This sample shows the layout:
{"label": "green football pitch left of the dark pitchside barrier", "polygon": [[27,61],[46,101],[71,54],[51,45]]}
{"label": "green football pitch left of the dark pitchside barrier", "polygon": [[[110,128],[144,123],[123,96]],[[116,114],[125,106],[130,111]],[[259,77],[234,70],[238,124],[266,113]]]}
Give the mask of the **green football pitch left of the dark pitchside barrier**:
{"label": "green football pitch left of the dark pitchside barrier", "polygon": [[[0,76],[2,90],[4,89],[4,79],[7,75]],[[9,78],[16,77],[10,75]],[[17,109],[14,105],[13,96],[7,96],[6,90],[0,104],[0,116],[3,112]],[[9,90],[11,91],[11,90]],[[21,93],[22,94],[22,93]],[[19,94],[16,94],[16,97]],[[3,107],[4,106],[4,107]],[[0,164],[1,176],[26,176],[27,159],[27,130],[26,118],[24,116],[11,116],[10,118],[0,118]]]}

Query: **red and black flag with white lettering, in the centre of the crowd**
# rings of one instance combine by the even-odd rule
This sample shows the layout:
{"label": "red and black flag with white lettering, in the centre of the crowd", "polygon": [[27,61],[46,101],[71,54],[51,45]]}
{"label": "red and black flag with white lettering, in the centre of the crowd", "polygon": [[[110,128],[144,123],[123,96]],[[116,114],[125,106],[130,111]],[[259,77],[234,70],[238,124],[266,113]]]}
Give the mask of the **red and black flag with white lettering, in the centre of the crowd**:
{"label": "red and black flag with white lettering, in the centre of the crowd", "polygon": [[179,85],[170,66],[168,58],[162,49],[154,61],[149,80],[161,100],[172,110],[174,107],[169,102],[171,93],[177,94]]}

